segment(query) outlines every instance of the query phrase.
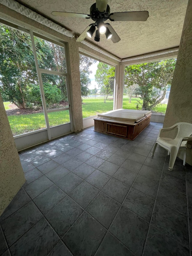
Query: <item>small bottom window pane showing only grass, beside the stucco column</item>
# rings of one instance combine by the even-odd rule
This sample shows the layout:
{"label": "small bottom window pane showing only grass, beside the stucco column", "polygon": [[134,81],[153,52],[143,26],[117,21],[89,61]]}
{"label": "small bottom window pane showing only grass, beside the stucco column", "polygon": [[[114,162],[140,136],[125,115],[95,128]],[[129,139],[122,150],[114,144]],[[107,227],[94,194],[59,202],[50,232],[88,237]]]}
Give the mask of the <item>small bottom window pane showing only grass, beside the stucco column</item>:
{"label": "small bottom window pane showing only grass, beside the stucco column", "polygon": [[50,127],[70,123],[69,110],[48,113],[48,118]]}

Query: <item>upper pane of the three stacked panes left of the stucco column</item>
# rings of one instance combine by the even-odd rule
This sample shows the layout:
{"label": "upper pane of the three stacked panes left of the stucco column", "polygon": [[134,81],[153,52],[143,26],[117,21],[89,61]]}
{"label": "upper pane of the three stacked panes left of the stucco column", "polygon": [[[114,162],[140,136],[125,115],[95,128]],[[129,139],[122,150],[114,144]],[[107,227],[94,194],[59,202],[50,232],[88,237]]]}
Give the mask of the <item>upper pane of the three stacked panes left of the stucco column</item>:
{"label": "upper pane of the three stacked panes left of the stucco column", "polygon": [[39,68],[66,73],[65,50],[34,36]]}

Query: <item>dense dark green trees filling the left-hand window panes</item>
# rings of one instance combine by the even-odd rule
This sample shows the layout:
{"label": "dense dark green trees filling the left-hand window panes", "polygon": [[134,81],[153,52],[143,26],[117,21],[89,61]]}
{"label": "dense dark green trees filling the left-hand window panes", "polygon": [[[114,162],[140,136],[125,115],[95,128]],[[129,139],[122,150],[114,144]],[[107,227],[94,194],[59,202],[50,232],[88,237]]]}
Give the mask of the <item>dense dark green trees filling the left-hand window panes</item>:
{"label": "dense dark green trees filling the left-hand window panes", "polygon": [[[35,37],[35,46],[40,68],[65,72],[64,48]],[[22,31],[10,27],[0,26],[0,91],[4,98],[14,103],[19,108],[35,107],[39,102],[40,90],[36,73],[31,37]],[[63,76],[42,74],[45,85],[46,102],[54,98],[51,86],[61,90],[62,98],[66,98],[66,81]],[[48,83],[50,86],[48,86]],[[47,90],[47,88],[49,89]],[[38,91],[37,91],[38,88]],[[31,95],[36,89],[39,94]],[[53,88],[55,89],[55,87]],[[56,92],[54,90],[54,92]],[[48,95],[50,94],[50,95]],[[35,99],[36,95],[36,99]],[[61,97],[55,97],[55,100]],[[42,104],[38,104],[40,106]]]}

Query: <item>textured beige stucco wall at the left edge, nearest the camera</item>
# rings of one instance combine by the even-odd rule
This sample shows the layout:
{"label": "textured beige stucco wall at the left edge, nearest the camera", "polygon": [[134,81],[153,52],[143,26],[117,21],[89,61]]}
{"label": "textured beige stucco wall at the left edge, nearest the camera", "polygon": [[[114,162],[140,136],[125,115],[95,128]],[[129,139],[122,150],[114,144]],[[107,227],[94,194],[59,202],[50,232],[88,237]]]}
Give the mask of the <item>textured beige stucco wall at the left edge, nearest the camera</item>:
{"label": "textured beige stucco wall at the left edge, nearest the camera", "polygon": [[19,154],[0,95],[0,215],[24,182]]}

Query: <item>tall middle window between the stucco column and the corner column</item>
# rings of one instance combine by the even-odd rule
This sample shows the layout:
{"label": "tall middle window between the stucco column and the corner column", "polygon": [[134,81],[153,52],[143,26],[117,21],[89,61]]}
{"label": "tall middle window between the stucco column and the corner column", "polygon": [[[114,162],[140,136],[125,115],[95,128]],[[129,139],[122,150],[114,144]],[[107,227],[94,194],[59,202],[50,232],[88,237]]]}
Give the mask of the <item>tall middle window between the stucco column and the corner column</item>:
{"label": "tall middle window between the stucco column and the corner column", "polygon": [[79,54],[83,118],[113,110],[115,68]]}

